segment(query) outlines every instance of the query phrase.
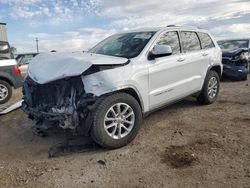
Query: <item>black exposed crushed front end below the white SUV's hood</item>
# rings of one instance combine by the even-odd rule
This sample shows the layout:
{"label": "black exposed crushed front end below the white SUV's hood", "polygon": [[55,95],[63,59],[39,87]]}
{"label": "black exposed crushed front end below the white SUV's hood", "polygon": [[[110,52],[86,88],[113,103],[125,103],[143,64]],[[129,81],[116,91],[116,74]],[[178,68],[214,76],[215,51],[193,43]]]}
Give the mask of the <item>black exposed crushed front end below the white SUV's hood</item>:
{"label": "black exposed crushed front end below the white SUV's hood", "polygon": [[95,98],[86,94],[81,76],[38,84],[27,77],[23,85],[22,109],[36,125],[53,122],[63,129],[86,123]]}

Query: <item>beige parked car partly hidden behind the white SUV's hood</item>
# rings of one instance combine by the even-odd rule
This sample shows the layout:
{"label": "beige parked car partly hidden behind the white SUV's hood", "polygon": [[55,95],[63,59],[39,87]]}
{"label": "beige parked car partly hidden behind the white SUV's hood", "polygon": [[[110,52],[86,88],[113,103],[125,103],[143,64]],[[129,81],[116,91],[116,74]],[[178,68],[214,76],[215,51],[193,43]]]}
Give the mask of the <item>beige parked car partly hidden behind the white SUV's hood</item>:
{"label": "beige parked car partly hidden behind the white SUV's hood", "polygon": [[22,77],[27,75],[29,63],[36,55],[38,55],[38,53],[22,53],[16,56],[17,64]]}

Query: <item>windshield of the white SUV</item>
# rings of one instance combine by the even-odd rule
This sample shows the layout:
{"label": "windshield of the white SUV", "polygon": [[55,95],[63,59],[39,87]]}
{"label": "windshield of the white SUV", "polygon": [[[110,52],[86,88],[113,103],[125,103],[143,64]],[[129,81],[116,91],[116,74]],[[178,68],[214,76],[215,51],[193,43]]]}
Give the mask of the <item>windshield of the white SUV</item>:
{"label": "windshield of the white SUV", "polygon": [[155,32],[134,32],[112,35],[94,48],[91,53],[133,58],[138,56]]}

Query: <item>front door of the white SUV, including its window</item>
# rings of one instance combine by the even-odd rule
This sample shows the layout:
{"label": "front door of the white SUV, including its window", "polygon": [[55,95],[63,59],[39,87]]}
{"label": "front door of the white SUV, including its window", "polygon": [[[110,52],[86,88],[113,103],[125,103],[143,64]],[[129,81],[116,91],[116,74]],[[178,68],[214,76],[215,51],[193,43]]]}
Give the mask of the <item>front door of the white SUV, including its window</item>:
{"label": "front door of the white SUV, including its window", "polygon": [[185,77],[185,59],[181,54],[178,33],[166,32],[160,36],[156,44],[169,45],[172,55],[156,58],[149,64],[150,109],[180,97],[179,86]]}

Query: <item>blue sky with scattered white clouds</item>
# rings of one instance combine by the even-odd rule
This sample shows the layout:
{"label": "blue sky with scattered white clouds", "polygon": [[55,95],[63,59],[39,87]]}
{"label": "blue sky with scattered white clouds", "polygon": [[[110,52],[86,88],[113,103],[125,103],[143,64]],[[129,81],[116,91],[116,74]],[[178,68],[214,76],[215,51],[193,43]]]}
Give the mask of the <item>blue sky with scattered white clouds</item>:
{"label": "blue sky with scattered white clouds", "polygon": [[250,37],[250,0],[0,0],[17,52],[90,49],[124,30],[192,25],[217,39]]}

